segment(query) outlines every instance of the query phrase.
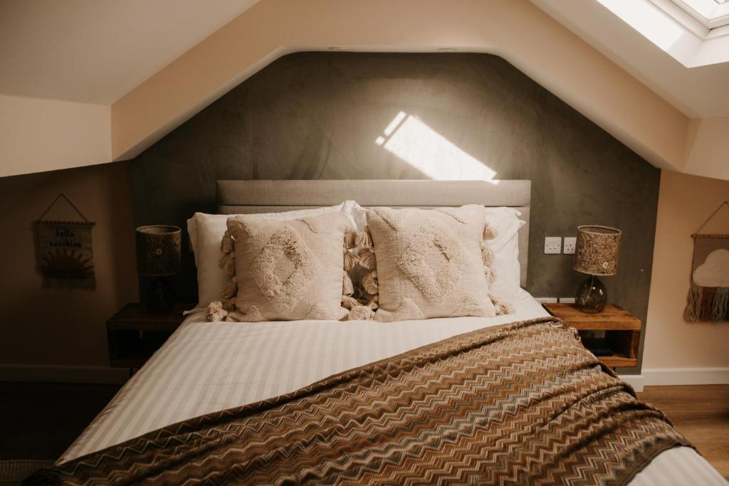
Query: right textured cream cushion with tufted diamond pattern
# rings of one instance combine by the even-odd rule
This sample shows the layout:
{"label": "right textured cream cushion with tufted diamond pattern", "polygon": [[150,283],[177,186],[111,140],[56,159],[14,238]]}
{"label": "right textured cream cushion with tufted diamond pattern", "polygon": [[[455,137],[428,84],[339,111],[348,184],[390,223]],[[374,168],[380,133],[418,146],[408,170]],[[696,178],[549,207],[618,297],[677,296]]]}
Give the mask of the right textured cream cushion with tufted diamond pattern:
{"label": "right textured cream cushion with tufted diamond pattern", "polygon": [[482,205],[371,208],[380,307],[378,321],[494,317],[483,273]]}

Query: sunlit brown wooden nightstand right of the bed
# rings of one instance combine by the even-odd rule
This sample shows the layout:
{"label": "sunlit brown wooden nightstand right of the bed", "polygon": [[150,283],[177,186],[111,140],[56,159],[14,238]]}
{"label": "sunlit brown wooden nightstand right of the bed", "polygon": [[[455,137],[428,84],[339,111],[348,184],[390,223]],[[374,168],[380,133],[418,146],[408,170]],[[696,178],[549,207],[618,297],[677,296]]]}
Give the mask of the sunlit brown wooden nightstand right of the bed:
{"label": "sunlit brown wooden nightstand right of the bed", "polygon": [[[597,340],[599,347],[613,350],[611,356],[598,359],[611,368],[634,367],[638,364],[638,345],[643,326],[639,318],[622,307],[608,304],[596,314],[588,314],[573,304],[544,304],[545,309],[564,324],[574,327],[583,335],[585,331],[604,331],[605,337]],[[594,342],[594,341],[591,341]]]}

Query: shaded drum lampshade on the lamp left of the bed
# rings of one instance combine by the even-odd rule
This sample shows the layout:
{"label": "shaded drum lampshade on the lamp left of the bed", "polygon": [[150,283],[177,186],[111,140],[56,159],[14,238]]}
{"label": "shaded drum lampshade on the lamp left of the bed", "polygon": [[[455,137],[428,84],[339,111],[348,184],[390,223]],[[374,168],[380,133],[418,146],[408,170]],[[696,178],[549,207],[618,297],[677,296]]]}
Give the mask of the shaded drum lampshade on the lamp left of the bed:
{"label": "shaded drum lampshade on the lamp left of the bed", "polygon": [[180,235],[176,226],[152,224],[136,229],[137,271],[161,277],[180,271]]}

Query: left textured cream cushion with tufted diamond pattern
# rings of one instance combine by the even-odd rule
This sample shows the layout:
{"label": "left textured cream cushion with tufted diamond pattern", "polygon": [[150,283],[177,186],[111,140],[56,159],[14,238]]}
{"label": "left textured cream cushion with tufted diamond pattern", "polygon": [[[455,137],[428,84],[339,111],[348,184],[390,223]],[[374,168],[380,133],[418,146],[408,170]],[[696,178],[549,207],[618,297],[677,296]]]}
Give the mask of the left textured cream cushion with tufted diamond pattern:
{"label": "left textured cream cushion with tufted diamond pattern", "polygon": [[342,212],[292,221],[228,218],[241,320],[339,320],[347,315],[341,301],[343,240],[349,226]]}

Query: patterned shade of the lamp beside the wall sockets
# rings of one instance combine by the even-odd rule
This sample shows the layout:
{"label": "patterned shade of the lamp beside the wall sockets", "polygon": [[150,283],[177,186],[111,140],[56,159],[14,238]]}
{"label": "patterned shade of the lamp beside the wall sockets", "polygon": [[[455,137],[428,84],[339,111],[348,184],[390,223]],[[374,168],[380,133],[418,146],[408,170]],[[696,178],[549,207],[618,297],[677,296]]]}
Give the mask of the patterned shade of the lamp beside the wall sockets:
{"label": "patterned shade of the lamp beside the wall sockets", "polygon": [[578,226],[574,270],[589,275],[615,275],[623,232],[607,226]]}

